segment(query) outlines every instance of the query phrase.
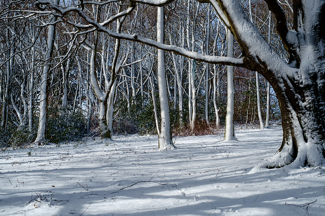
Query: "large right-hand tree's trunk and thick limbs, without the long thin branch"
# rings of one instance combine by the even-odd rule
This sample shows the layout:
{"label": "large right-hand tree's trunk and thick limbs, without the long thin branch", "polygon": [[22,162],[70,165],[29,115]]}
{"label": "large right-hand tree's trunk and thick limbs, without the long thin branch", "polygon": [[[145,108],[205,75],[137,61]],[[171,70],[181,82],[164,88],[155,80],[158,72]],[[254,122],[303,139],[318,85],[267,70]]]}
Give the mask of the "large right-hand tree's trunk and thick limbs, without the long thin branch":
{"label": "large right-hand tree's trunk and thick limbs, without the long thin branch", "polygon": [[[244,63],[247,68],[266,77],[279,99],[282,145],[272,158],[259,165],[269,168],[287,164],[293,167],[324,165],[325,2],[295,2],[294,30],[288,31],[280,6],[274,1],[266,1],[277,19],[277,30],[290,55],[289,64],[247,20],[237,1],[219,2],[233,22],[231,28],[246,54]],[[248,33],[249,37],[245,36]]]}

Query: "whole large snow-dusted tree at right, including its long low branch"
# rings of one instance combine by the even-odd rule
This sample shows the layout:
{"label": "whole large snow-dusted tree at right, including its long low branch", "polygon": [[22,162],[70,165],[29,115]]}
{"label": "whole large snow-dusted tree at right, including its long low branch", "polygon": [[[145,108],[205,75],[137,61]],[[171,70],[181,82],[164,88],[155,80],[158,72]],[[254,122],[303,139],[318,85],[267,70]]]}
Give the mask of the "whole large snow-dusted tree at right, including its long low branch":
{"label": "whole large snow-dusted tree at right, including its long low branch", "polygon": [[[164,6],[174,0],[131,0],[130,5]],[[38,5],[54,10],[59,16],[77,13],[94,28],[108,35],[142,42],[197,61],[244,67],[262,74],[272,85],[281,109],[283,141],[278,152],[261,163],[265,167],[318,166],[325,162],[325,0],[293,0],[294,19],[287,18],[277,0],[264,0],[276,20],[276,29],[288,52],[289,61],[272,48],[247,17],[238,0],[199,0],[211,4],[220,19],[236,38],[241,58],[208,56],[176,46],[161,44],[139,34],[117,33],[104,23],[90,19],[78,7],[61,7],[52,0],[39,0]],[[83,2],[83,4],[109,4]],[[124,1],[122,1],[124,2]],[[126,1],[125,1],[126,2]],[[266,11],[268,13],[268,11]],[[118,15],[117,15],[118,16]],[[213,24],[213,23],[211,23]],[[288,29],[293,26],[293,29]]]}

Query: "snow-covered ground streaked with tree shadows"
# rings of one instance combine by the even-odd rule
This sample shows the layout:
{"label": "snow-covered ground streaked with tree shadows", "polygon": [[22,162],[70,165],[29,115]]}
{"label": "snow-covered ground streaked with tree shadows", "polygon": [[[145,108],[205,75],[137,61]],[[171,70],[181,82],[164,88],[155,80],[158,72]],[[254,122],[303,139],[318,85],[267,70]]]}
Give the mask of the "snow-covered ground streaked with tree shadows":
{"label": "snow-covered ground streaked with tree shadows", "polygon": [[251,171],[280,127],[220,136],[117,137],[0,152],[0,215],[324,215],[325,168]]}

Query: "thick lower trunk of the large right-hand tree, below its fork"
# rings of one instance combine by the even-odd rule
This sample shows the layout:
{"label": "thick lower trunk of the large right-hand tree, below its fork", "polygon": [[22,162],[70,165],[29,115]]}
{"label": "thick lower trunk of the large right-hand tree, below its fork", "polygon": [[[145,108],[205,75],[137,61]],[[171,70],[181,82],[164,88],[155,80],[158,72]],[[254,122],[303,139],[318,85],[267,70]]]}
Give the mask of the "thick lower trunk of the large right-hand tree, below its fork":
{"label": "thick lower trunk of the large right-hand tree, below its fork", "polygon": [[276,155],[262,163],[263,166],[273,168],[289,163],[296,167],[325,164],[325,89],[323,84],[317,86],[317,79],[314,77],[311,80],[314,84],[303,87],[292,85],[293,80],[287,80],[283,83],[287,90],[278,92],[276,88],[283,140]]}

